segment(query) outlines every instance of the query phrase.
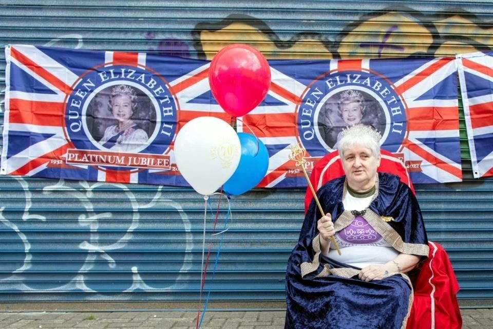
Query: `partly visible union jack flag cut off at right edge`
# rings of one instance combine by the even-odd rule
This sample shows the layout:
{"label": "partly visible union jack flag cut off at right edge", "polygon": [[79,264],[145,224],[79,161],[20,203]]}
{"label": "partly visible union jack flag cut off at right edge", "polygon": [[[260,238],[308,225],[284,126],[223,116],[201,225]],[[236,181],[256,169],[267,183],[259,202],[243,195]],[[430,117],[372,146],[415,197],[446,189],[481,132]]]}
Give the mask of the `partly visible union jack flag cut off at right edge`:
{"label": "partly visible union jack flag cut off at right edge", "polygon": [[472,173],[493,176],[493,51],[457,58]]}

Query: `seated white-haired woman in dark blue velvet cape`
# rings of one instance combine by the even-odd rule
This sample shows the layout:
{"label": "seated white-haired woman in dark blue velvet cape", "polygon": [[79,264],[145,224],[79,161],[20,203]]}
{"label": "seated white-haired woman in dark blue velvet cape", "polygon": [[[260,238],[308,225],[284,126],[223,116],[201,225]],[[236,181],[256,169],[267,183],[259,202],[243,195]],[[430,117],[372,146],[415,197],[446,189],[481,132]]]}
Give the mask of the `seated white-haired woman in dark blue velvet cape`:
{"label": "seated white-haired woman in dark blue velvet cape", "polygon": [[405,273],[428,255],[428,241],[409,187],[377,173],[380,138],[363,125],[343,132],[346,175],[318,190],[325,214],[312,200],[289,259],[286,328],[406,326],[412,286]]}

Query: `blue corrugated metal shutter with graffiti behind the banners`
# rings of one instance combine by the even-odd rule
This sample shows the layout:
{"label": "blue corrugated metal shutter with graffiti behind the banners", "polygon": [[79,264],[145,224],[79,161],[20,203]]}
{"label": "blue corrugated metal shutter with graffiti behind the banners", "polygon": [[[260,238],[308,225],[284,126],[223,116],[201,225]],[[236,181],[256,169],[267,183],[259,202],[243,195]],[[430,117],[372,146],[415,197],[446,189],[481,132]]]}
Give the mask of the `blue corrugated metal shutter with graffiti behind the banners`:
{"label": "blue corrugated metal shutter with graffiti behind the banners", "polygon": [[[210,59],[232,42],[250,43],[268,58],[451,56],[493,44],[483,23],[493,5],[465,1],[26,0],[0,6],[2,46]],[[416,190],[430,240],[446,248],[456,269],[459,297],[491,301],[493,180],[471,178],[463,122],[461,136],[464,181]],[[216,275],[205,286],[213,300],[282,303],[304,193],[255,190],[232,200]],[[0,301],[197,300],[203,209],[190,189],[0,176]],[[208,233],[213,221],[207,220]],[[221,236],[207,236],[211,271]]]}

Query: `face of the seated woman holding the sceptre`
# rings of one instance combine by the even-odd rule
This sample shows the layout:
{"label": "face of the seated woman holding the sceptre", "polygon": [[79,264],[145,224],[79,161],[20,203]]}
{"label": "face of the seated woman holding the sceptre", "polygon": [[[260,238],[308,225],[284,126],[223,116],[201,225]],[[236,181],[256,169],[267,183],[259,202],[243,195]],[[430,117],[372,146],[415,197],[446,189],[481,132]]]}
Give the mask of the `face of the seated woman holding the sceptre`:
{"label": "face of the seated woman holding the sceptre", "polygon": [[376,181],[376,169],[380,166],[380,154],[376,157],[371,149],[354,145],[343,151],[343,169],[349,186],[358,192],[371,189]]}

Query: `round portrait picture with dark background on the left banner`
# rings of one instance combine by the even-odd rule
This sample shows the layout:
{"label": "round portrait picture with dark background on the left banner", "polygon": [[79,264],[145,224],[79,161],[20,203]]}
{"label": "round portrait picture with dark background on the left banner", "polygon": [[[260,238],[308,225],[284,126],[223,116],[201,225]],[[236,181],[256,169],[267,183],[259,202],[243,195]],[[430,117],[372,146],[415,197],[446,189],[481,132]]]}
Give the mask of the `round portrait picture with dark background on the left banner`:
{"label": "round portrait picture with dark background on the left banner", "polygon": [[[150,126],[154,107],[137,88],[119,84],[105,88],[88,111],[93,139],[103,148],[131,152],[147,143],[155,124]],[[140,101],[139,101],[140,98]]]}

